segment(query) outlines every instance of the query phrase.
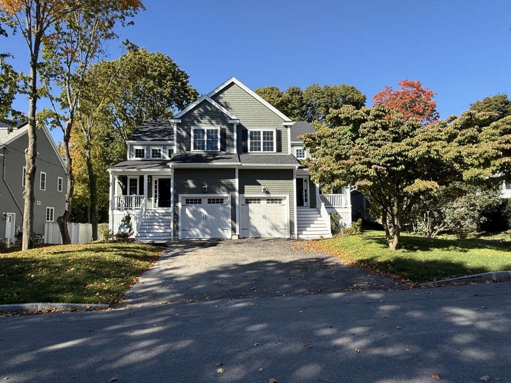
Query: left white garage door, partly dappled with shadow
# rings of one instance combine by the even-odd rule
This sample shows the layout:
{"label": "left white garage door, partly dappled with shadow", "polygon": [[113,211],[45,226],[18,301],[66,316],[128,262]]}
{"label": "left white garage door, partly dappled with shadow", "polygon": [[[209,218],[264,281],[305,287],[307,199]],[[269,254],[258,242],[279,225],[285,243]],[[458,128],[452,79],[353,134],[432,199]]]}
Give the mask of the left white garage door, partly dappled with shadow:
{"label": "left white garage door, partly dappled with shadow", "polygon": [[230,196],[182,196],[180,239],[230,238]]}

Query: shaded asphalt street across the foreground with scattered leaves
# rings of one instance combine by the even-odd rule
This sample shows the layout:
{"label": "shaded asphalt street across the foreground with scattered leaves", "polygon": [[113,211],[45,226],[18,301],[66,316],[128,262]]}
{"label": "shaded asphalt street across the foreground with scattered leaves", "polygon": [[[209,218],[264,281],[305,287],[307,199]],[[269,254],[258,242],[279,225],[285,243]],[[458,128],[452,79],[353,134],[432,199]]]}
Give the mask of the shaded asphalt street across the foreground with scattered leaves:
{"label": "shaded asphalt street across the foreground with scattered leaves", "polygon": [[511,282],[270,295],[0,317],[0,379],[511,382]]}

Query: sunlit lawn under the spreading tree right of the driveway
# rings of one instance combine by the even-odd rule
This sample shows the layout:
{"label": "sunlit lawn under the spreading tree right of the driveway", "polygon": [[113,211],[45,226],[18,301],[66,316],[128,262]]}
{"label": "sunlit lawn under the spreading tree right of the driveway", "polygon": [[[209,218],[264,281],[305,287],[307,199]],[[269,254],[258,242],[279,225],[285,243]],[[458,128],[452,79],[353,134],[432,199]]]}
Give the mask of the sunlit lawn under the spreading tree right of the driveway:
{"label": "sunlit lawn under the spreading tree right of the driveway", "polygon": [[389,250],[382,231],[309,243],[351,265],[413,283],[511,270],[511,242],[484,236],[455,240],[404,233],[401,248],[394,251]]}

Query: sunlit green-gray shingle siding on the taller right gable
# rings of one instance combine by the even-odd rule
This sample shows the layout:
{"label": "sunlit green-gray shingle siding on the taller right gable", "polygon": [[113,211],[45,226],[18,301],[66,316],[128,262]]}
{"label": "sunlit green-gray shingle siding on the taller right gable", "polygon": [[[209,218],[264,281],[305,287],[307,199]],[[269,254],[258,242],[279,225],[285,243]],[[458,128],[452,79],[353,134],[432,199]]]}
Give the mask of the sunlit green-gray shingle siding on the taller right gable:
{"label": "sunlit green-gray shingle siding on the taller right gable", "polygon": [[[287,128],[282,126],[284,120],[261,102],[254,99],[252,95],[232,83],[215,94],[212,99],[240,119],[237,132],[238,153],[242,153],[243,151],[243,129],[276,128],[282,131],[282,154],[287,154]],[[254,155],[257,154],[258,153],[254,153]]]}

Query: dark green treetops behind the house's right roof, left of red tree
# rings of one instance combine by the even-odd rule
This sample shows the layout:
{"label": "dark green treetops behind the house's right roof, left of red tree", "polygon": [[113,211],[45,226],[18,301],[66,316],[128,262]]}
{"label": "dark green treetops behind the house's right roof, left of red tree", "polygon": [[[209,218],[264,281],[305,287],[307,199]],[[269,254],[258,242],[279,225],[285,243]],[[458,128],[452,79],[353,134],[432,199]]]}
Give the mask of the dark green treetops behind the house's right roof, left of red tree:
{"label": "dark green treetops behind the house's right roof, left of red tree", "polygon": [[330,109],[338,109],[342,105],[353,105],[360,109],[366,97],[352,85],[313,84],[304,90],[291,86],[281,91],[276,86],[255,89],[264,100],[283,112],[293,121],[326,122]]}

